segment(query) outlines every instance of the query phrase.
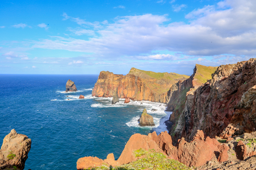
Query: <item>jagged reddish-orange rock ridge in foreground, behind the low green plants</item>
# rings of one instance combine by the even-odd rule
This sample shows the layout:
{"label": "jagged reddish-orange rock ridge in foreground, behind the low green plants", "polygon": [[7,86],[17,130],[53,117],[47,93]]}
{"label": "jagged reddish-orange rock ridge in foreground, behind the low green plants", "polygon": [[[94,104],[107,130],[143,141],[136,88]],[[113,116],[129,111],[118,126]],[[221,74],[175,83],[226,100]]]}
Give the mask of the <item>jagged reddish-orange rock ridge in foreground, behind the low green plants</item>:
{"label": "jagged reddish-orange rock ridge in foreground, behind the low green plants", "polygon": [[[161,134],[158,136],[156,132],[149,133],[147,136],[137,133],[130,137],[118,160],[114,161],[112,158],[112,161],[114,161],[116,165],[134,162],[138,160],[134,154],[134,151],[143,149],[146,151],[153,149],[156,152],[162,153],[169,159],[178,160],[179,162],[190,167],[203,166],[209,161],[228,161],[228,150],[230,148],[226,144],[219,143],[216,139],[205,137],[202,131],[197,131],[194,140],[191,142],[186,142],[184,138],[182,138],[177,146],[172,145],[171,136],[167,133],[167,131],[161,132]],[[85,157],[83,159],[91,160],[89,157]],[[83,169],[91,166],[92,164],[95,164],[95,166],[96,164],[106,164],[105,160],[99,160],[99,158],[95,158],[95,162],[88,161],[88,163],[86,163],[85,161],[86,165],[83,166],[80,166],[81,161],[79,161],[77,162],[77,164],[79,164],[78,168]]]}

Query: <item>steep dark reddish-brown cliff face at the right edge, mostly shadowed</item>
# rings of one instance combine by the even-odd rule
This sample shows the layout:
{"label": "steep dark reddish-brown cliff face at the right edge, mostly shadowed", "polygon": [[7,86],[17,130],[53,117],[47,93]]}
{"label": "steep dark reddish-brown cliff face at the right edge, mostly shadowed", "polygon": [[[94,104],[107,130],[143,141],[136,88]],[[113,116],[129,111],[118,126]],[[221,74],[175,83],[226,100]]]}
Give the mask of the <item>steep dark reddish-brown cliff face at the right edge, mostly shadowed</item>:
{"label": "steep dark reddish-brown cliff face at the right edge, mostly shadowed", "polygon": [[239,128],[237,133],[255,131],[256,59],[219,66],[212,79],[188,93],[178,114],[171,129],[174,143],[180,137],[191,140],[197,129],[219,136],[230,123]]}

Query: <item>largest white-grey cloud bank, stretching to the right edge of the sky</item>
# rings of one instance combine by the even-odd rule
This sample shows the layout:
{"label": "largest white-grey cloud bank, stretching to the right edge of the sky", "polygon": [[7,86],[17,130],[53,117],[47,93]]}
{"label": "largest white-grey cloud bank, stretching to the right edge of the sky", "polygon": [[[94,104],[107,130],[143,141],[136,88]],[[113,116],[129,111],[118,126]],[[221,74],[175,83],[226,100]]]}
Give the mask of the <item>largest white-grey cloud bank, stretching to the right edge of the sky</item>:
{"label": "largest white-grey cloud bank, stretching to the right edge of the sky", "polygon": [[190,24],[166,24],[167,15],[116,17],[114,23],[94,30],[95,36],[88,40],[55,36],[38,41],[33,47],[89,52],[92,57],[106,59],[140,56],[152,50],[200,58],[221,54],[255,56],[255,18],[256,1],[224,0],[188,13]]}

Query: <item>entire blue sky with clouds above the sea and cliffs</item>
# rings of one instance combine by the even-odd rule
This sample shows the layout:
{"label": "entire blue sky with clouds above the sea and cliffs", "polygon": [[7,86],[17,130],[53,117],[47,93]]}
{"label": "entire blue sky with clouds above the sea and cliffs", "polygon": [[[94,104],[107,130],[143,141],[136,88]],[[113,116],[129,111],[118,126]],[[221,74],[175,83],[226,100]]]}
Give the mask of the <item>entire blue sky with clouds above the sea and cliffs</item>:
{"label": "entire blue sky with clouds above the sea and cliffs", "polygon": [[1,0],[0,16],[0,74],[191,75],[256,56],[256,0]]}

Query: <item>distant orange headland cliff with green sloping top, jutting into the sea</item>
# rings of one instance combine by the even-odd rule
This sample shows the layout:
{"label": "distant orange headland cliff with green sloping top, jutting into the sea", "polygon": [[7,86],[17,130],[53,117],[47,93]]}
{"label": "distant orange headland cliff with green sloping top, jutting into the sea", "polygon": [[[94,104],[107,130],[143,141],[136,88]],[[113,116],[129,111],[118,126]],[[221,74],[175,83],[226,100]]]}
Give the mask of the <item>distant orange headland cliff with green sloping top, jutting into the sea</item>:
{"label": "distant orange headland cliff with green sloping top, jutting into the sea", "polygon": [[186,75],[176,73],[154,73],[136,68],[131,68],[125,76],[102,71],[94,85],[92,96],[113,97],[114,89],[118,88],[119,98],[167,103],[167,91],[171,85],[187,78]]}

